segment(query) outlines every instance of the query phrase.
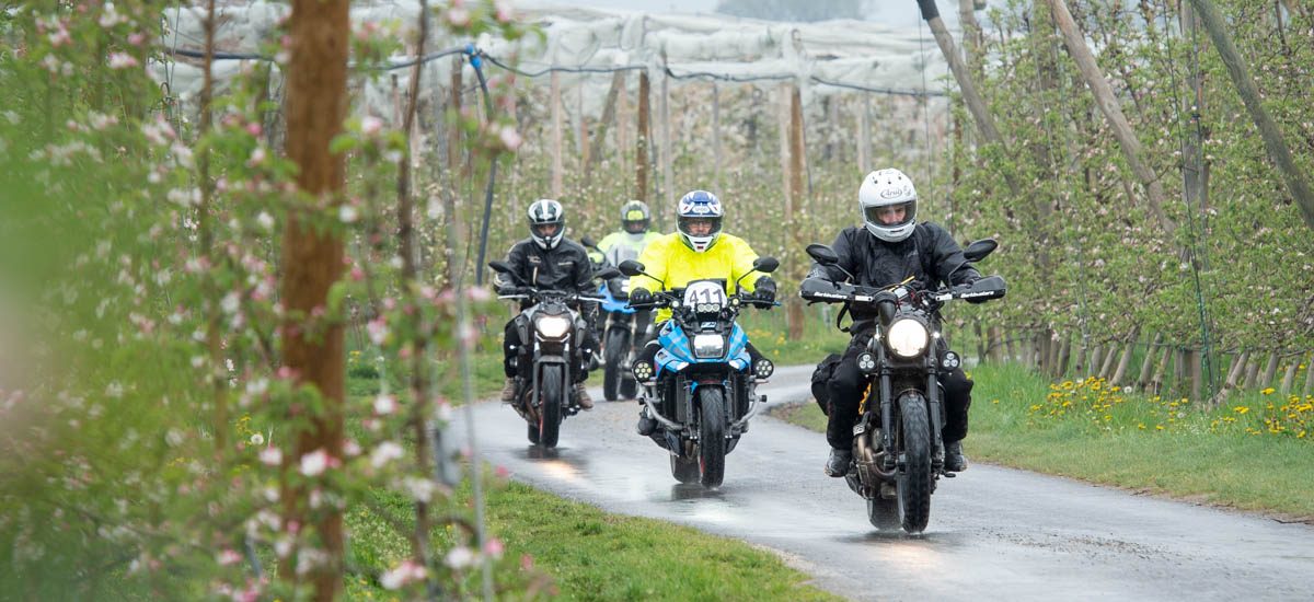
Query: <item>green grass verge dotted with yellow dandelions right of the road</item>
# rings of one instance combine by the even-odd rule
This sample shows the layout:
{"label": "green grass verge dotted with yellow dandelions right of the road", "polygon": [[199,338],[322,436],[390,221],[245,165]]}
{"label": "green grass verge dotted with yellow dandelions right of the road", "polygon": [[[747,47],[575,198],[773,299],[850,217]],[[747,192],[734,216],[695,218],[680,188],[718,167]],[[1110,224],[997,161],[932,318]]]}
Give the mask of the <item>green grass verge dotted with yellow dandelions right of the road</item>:
{"label": "green grass verge dotted with yellow dandelions right of the road", "polygon": [[[1051,388],[1013,364],[979,367],[972,380],[964,443],[971,460],[1314,521],[1314,446],[1296,436],[1290,419],[1286,428],[1273,421],[1309,411],[1285,405],[1300,405],[1296,400],[1251,393],[1225,407],[1197,409],[1181,400]],[[777,414],[825,430],[811,401]]]}

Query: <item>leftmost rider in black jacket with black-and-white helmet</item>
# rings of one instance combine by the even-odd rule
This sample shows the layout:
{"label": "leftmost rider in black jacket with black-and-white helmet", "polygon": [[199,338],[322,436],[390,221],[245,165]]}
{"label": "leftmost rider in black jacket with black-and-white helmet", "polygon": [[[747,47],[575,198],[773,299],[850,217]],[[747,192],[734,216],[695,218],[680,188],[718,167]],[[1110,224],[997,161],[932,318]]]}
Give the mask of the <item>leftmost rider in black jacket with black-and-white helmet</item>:
{"label": "leftmost rider in black jacket with black-and-white helmet", "polygon": [[[506,254],[506,263],[511,271],[524,283],[532,283],[540,289],[568,290],[577,293],[591,293],[593,266],[589,255],[579,243],[565,238],[565,210],[561,202],[552,198],[539,198],[530,204],[527,210],[530,218],[530,238],[516,242]],[[518,287],[510,277],[498,273],[495,287],[498,294],[514,294]],[[522,377],[528,379],[530,358],[528,347],[520,340],[520,325],[528,317],[523,313],[530,306],[528,300],[520,302],[520,312],[506,323],[502,338],[503,368],[506,371],[506,384],[502,386],[502,401],[515,401],[515,376],[519,371]],[[583,334],[581,351],[583,365],[572,368],[576,379],[576,397],[585,410],[593,409],[593,398],[583,381],[589,377],[587,365],[593,354],[598,350],[598,342],[593,335],[590,313],[597,310],[595,304],[579,304],[581,322],[576,325],[576,331]],[[527,325],[526,325],[527,326]],[[515,361],[516,354],[519,361]]]}

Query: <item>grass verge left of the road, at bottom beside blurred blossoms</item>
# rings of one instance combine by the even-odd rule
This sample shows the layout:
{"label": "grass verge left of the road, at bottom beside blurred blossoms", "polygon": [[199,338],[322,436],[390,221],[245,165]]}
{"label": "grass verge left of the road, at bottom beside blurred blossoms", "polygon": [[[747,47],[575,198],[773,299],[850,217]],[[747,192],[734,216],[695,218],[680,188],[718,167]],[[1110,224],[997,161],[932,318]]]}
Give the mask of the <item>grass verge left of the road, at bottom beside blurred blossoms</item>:
{"label": "grass verge left of the road, at bottom beside blurred blossoms", "polygon": [[[455,506],[469,503],[469,489]],[[501,481],[486,494],[487,530],[505,544],[495,573],[498,597],[537,589],[564,599],[844,599],[808,585],[809,577],[771,552],[671,523],[607,514]],[[410,502],[374,496],[369,507],[347,515],[352,532],[348,599],[390,599],[377,576],[410,552],[394,524],[414,524]],[[435,547],[445,551],[459,531],[438,527]],[[455,595],[478,595],[476,570],[457,577]]]}

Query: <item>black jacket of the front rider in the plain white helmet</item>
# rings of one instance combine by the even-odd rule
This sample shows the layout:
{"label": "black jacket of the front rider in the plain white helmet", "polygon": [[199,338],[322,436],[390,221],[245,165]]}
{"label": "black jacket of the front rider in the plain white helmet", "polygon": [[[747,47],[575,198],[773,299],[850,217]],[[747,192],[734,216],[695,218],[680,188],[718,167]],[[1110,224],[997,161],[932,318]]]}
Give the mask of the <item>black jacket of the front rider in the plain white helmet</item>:
{"label": "black jacket of the front rider in the plain white helmet", "polygon": [[[888,287],[904,281],[908,276],[916,280],[913,288],[937,289],[946,285],[963,284],[980,277],[972,267],[963,266],[963,250],[947,230],[936,223],[918,223],[912,235],[899,242],[884,242],[861,226],[844,229],[830,244],[840,256],[840,267],[857,277],[861,287]],[[844,272],[812,264],[808,276],[844,281]],[[953,279],[953,280],[950,280]],[[853,308],[853,319],[866,322],[875,317],[871,308]]]}

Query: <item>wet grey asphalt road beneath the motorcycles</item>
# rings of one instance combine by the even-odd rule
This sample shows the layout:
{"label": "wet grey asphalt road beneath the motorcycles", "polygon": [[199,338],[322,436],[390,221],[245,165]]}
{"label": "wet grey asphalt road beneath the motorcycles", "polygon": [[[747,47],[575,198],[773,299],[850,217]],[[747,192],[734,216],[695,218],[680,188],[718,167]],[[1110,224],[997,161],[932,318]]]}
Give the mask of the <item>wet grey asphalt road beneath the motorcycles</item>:
{"label": "wet grey asphalt road beneath the motorcycles", "polygon": [[[761,392],[773,405],[804,400],[811,371],[781,368]],[[975,464],[941,481],[925,534],[882,532],[842,480],[821,473],[821,434],[759,415],[727,456],[725,482],[708,490],[675,482],[668,452],[635,434],[637,404],[594,398],[597,409],[562,423],[556,450],[530,446],[510,407],[478,404],[482,459],[607,511],[777,549],[817,585],[855,599],[1309,599],[1314,591],[1314,528],[1305,524]],[[970,455],[971,438],[966,447]]]}

